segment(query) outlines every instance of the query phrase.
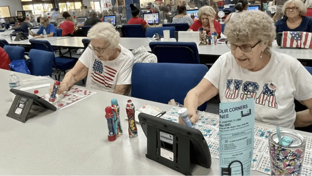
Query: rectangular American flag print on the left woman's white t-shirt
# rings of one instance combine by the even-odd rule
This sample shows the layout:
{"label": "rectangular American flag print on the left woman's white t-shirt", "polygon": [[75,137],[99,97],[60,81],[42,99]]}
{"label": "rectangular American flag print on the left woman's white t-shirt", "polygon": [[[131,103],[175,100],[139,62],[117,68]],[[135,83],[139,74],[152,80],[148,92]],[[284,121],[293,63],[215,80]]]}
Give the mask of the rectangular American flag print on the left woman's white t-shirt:
{"label": "rectangular American flag print on the left woman's white t-shirt", "polygon": [[92,67],[91,77],[94,81],[105,87],[111,88],[117,71],[111,67],[103,65],[103,63],[95,59]]}

